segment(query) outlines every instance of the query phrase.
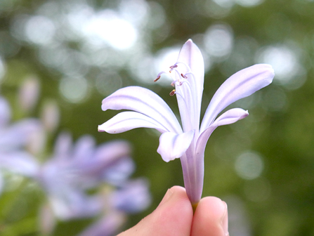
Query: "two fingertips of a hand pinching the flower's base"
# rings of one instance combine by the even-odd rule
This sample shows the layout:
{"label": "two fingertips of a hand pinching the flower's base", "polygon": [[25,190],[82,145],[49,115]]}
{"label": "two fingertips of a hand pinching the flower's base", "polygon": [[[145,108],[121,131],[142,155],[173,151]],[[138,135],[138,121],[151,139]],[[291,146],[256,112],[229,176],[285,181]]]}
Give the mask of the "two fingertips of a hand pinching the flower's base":
{"label": "two fingertips of a hand pinching the flower's base", "polygon": [[193,216],[185,188],[170,188],[152,214],[118,236],[228,236],[227,204],[204,197]]}

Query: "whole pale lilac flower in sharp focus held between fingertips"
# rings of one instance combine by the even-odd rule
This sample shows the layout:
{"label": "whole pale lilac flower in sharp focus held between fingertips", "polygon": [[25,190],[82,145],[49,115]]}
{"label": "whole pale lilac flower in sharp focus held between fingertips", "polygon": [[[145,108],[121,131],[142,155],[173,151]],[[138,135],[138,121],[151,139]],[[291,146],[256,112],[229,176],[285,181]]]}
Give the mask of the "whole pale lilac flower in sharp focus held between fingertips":
{"label": "whole pale lilac flower in sharp focus held between fingertips", "polygon": [[[240,98],[268,86],[274,72],[270,65],[260,64],[233,74],[216,91],[199,126],[204,84],[204,61],[199,48],[188,40],[181,48],[178,60],[170,67],[181,122],[171,108],[156,93],[138,86],[119,89],[103,100],[102,109],[131,110],[120,112],[98,126],[98,131],[122,133],[139,127],[157,129],[159,138],[157,152],[164,161],[180,158],[188,197],[193,205],[202,196],[204,179],[204,150],[211,133],[218,126],[233,124],[248,112],[241,108],[230,109],[216,118],[221,111]],[[164,72],[160,72],[157,79]],[[157,81],[155,79],[155,81]]]}

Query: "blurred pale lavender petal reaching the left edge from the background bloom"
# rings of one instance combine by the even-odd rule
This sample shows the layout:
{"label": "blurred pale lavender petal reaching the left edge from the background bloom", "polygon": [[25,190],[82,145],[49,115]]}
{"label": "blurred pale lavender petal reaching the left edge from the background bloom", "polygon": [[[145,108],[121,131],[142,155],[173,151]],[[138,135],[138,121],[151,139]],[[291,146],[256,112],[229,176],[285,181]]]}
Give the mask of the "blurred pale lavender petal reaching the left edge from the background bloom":
{"label": "blurred pale lavender petal reaching the left edge from the background bloom", "polygon": [[39,163],[27,152],[0,152],[0,168],[34,177],[39,172]]}

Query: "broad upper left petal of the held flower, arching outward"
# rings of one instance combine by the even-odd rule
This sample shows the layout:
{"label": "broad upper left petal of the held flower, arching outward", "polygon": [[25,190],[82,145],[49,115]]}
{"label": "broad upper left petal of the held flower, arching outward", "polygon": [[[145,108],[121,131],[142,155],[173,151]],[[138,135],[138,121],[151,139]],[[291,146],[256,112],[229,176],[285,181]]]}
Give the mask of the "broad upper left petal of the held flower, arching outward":
{"label": "broad upper left petal of the held flower, arching outward", "polygon": [[103,100],[105,110],[133,110],[163,124],[169,131],[181,133],[181,126],[170,107],[156,93],[138,86],[119,89]]}

